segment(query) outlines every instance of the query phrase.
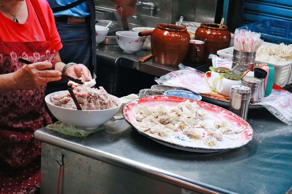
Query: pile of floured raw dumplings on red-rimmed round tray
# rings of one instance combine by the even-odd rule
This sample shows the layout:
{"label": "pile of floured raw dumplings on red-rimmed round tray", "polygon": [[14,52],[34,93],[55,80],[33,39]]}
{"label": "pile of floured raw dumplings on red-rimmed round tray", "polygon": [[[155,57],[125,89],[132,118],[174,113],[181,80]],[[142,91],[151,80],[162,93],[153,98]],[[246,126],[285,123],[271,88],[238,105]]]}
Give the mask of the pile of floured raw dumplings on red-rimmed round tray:
{"label": "pile of floured raw dumplings on red-rimmed round tray", "polygon": [[[210,147],[217,147],[218,141],[224,137],[236,140],[245,126],[235,127],[226,121],[215,121],[213,126],[205,122],[207,113],[202,111],[196,102],[186,100],[178,104],[177,108],[168,108],[158,105],[156,108],[140,106],[134,110],[137,122],[135,127],[155,138],[175,135],[175,132],[182,131],[183,134],[194,139],[204,139],[204,144]],[[204,129],[201,133],[198,129]],[[204,137],[204,138],[203,138]]]}

